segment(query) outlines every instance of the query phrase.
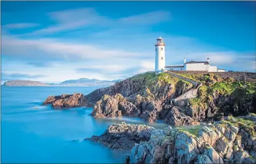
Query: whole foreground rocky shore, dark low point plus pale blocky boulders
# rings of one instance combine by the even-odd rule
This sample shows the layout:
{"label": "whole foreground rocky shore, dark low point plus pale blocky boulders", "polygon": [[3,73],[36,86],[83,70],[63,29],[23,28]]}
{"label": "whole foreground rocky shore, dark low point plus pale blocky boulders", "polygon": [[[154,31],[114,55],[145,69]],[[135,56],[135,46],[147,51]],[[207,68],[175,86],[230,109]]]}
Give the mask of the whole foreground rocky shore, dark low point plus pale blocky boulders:
{"label": "whole foreground rocky shore, dark low point plus pale blocky boulders", "polygon": [[125,163],[256,163],[256,115],[225,117],[214,124],[158,130],[113,124],[91,141],[130,150]]}

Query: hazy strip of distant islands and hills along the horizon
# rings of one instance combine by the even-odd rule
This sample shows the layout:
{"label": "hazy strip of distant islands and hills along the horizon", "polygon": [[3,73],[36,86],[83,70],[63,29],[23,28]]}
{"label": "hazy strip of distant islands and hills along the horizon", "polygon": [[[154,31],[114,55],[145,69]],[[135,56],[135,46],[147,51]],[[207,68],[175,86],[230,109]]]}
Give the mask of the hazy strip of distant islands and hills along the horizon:
{"label": "hazy strip of distant islands and hills along the horizon", "polygon": [[121,80],[98,80],[89,78],[79,78],[77,80],[65,80],[59,84],[43,83],[30,80],[10,80],[3,84],[3,86],[111,86],[115,82]]}

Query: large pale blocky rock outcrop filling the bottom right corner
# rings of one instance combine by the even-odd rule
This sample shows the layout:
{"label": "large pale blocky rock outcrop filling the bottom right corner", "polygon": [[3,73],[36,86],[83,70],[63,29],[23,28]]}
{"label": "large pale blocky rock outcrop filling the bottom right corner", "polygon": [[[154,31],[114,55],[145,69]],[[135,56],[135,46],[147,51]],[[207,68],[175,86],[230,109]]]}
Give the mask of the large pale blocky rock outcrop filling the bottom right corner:
{"label": "large pale blocky rock outcrop filling the bottom right corner", "polygon": [[126,163],[256,163],[255,115],[214,124],[152,130]]}

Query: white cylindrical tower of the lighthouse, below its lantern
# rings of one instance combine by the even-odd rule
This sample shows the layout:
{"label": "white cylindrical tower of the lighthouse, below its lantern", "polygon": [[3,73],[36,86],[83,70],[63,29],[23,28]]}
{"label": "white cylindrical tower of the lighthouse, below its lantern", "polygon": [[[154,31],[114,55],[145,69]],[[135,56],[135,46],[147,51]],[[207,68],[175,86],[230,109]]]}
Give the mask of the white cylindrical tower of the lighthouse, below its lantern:
{"label": "white cylindrical tower of the lighthouse, below its lantern", "polygon": [[162,69],[165,69],[165,46],[158,45],[156,46],[155,70],[160,71]]}

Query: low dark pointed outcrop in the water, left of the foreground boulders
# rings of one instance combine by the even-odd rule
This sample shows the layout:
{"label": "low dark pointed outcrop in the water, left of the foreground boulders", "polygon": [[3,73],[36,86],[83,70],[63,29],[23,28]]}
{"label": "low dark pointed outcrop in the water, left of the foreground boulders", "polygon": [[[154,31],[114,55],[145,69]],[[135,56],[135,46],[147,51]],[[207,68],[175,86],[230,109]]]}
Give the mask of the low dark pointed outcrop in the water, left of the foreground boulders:
{"label": "low dark pointed outcrop in the water, left of the foreground boulders", "polygon": [[141,141],[149,141],[154,128],[143,124],[113,124],[100,136],[93,135],[87,140],[101,143],[112,150],[131,150]]}

